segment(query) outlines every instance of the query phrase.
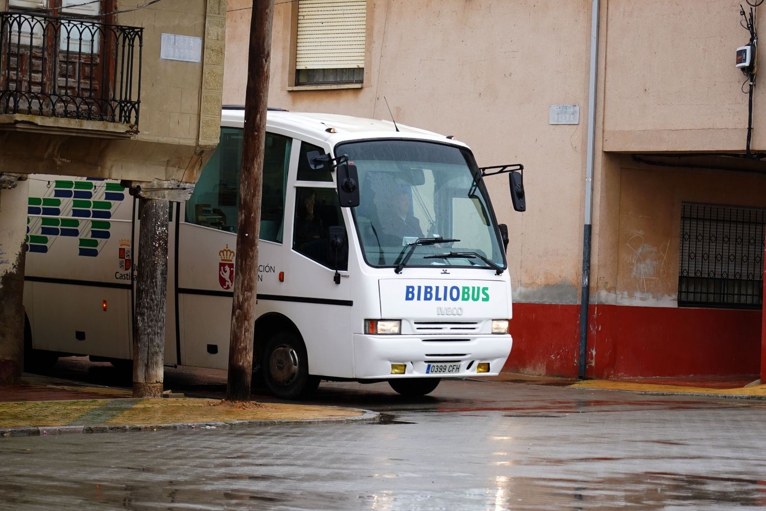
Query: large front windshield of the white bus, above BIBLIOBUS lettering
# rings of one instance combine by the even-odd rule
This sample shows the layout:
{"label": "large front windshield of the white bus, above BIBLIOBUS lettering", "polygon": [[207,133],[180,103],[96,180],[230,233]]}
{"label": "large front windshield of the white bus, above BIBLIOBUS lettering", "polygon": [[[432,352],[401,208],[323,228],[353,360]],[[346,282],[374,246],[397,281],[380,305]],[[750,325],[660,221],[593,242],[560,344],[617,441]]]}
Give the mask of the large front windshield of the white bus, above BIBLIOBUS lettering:
{"label": "large front windshield of the white bus, above BIBLIOBUS lettering", "polygon": [[[486,189],[467,149],[415,140],[345,142],[358,169],[353,216],[374,267],[505,268]],[[412,244],[422,238],[444,238]],[[449,241],[447,241],[449,240]],[[408,254],[409,253],[409,254]]]}

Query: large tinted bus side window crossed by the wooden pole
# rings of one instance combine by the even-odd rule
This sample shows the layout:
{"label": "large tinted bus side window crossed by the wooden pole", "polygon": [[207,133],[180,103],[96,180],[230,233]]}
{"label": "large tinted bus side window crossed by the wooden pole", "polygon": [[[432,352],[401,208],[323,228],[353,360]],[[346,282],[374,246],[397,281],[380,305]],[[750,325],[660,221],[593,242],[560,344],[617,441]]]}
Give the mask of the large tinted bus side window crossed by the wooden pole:
{"label": "large tinted bus side window crossed by the wooden pole", "polygon": [[[266,134],[260,239],[282,242],[287,168],[292,139]],[[237,232],[242,129],[221,128],[221,141],[186,201],[185,221],[221,231]]]}

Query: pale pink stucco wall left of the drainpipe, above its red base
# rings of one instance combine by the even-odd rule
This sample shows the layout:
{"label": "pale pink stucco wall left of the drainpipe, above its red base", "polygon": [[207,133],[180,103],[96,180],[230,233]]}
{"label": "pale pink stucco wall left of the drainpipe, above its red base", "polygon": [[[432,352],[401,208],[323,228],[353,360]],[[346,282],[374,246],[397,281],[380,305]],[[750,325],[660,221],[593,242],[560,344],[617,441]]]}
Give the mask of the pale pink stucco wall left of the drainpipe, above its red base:
{"label": "pale pink stucco wall left of the drainpipe, above its red base", "polygon": [[[389,119],[455,135],[480,165],[522,162],[528,210],[488,181],[509,224],[515,300],[575,303],[581,265],[590,5],[577,2],[368,2],[364,87],[288,90],[293,5],[274,9],[270,106]],[[230,0],[224,103],[244,103],[250,2]],[[579,104],[580,124],[548,124]],[[566,212],[565,214],[562,214]]]}

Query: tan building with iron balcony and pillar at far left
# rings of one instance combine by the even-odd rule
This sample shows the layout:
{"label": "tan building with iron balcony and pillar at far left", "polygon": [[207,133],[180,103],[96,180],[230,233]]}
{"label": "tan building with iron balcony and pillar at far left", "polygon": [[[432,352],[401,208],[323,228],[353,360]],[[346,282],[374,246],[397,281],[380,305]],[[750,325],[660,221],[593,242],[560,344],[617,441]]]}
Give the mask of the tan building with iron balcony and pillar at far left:
{"label": "tan building with iron balcony and pillar at far left", "polygon": [[[0,0],[0,382],[20,374],[28,207],[59,215],[74,198],[104,224],[93,182],[188,195],[218,144],[225,13],[225,0]],[[33,204],[36,174],[90,182]],[[74,224],[90,246],[91,221]]]}

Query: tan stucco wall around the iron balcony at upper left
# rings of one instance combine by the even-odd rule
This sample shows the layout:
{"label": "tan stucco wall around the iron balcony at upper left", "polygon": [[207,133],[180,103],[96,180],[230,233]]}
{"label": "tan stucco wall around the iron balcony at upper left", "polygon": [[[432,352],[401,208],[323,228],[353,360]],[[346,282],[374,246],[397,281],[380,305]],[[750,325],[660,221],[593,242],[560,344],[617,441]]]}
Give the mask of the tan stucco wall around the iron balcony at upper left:
{"label": "tan stucco wall around the iron balcony at upper left", "polygon": [[[117,7],[144,3],[119,0]],[[144,28],[139,133],[126,138],[112,133],[113,123],[54,118],[33,132],[0,126],[0,172],[195,182],[218,144],[225,9],[225,0],[164,0],[119,14],[118,25]],[[162,33],[202,38],[201,62],[162,60]],[[100,126],[110,124],[111,131]]]}

